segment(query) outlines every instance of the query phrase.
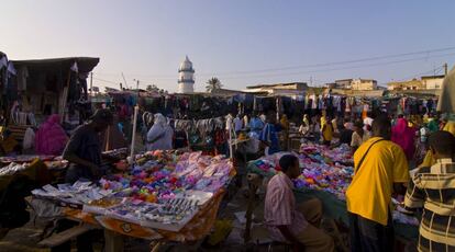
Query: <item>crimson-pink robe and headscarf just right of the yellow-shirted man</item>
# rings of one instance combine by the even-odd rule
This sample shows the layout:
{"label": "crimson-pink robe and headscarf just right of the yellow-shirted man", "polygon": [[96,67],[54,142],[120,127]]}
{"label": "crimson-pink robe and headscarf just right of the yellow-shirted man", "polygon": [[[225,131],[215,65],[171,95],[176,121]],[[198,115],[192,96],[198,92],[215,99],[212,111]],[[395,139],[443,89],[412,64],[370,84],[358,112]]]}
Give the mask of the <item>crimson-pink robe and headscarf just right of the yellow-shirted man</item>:
{"label": "crimson-pink robe and headscarf just right of the yellow-shirted man", "polygon": [[399,145],[408,160],[414,157],[415,152],[415,129],[408,126],[408,121],[399,118],[396,126],[392,128],[391,140]]}

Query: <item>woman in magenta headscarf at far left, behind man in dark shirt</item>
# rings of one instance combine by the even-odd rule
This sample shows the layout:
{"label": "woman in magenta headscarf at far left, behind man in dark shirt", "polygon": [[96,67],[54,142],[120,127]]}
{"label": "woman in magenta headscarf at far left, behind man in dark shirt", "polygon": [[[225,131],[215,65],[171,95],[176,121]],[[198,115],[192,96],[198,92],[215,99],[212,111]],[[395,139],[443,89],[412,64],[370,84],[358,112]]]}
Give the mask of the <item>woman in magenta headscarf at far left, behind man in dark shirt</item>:
{"label": "woman in magenta headscarf at far left, behind man in dark shirt", "polygon": [[59,125],[60,116],[51,115],[35,135],[35,151],[38,154],[59,156],[65,149],[68,136]]}

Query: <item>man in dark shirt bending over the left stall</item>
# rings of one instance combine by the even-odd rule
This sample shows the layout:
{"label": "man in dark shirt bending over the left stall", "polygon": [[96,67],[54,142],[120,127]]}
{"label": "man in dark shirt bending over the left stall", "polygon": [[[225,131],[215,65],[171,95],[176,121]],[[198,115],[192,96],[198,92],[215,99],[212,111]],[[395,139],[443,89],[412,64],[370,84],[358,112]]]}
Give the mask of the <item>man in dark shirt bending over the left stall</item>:
{"label": "man in dark shirt bending over the left stall", "polygon": [[75,183],[79,179],[96,180],[103,172],[101,165],[101,140],[99,134],[112,124],[109,110],[98,110],[88,124],[80,125],[73,133],[64,151],[64,159],[70,165],[66,172],[66,182]]}

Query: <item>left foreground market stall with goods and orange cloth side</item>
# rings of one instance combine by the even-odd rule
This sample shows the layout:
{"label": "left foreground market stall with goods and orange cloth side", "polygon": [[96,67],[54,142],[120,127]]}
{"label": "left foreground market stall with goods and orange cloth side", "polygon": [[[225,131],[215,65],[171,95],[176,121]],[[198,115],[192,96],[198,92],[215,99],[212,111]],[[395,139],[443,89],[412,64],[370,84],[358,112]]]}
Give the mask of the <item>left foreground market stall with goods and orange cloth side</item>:
{"label": "left foreground market stall with goods and orange cloth side", "polygon": [[146,152],[135,160],[129,171],[104,176],[99,184],[46,185],[32,192],[33,201],[37,208],[58,206],[65,218],[103,228],[107,248],[116,240],[114,251],[121,250],[119,233],[176,242],[207,236],[235,175],[231,161],[177,151]]}

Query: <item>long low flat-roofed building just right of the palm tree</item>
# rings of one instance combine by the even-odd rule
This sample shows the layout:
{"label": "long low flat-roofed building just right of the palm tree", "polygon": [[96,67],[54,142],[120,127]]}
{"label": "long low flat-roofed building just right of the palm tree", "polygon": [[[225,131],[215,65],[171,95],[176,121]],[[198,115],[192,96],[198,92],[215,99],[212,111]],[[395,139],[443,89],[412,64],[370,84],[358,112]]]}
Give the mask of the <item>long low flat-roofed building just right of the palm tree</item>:
{"label": "long low flat-roofed building just right of the palm tree", "polygon": [[277,84],[259,84],[246,87],[247,93],[268,93],[269,95],[302,95],[308,90],[306,82],[290,82]]}

